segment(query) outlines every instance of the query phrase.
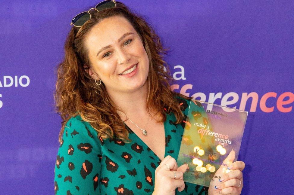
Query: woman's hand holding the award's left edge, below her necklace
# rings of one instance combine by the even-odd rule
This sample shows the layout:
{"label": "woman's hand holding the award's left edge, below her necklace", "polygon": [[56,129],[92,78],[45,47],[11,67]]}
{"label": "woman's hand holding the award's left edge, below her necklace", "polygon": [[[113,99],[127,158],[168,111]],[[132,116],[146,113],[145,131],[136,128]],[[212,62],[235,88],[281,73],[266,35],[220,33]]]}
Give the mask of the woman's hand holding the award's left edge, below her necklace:
{"label": "woman's hand holding the award's left edge, below her necklace", "polygon": [[179,192],[183,191],[185,188],[183,174],[187,169],[189,169],[188,164],[178,167],[176,159],[170,155],[166,156],[155,169],[155,184],[152,195],[175,195],[177,188]]}

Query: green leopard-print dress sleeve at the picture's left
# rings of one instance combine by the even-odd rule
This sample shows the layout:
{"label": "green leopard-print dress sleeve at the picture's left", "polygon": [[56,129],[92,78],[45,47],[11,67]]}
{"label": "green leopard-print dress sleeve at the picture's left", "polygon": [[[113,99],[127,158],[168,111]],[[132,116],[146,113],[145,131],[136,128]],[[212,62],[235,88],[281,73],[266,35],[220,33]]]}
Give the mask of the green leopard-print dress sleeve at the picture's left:
{"label": "green leopard-print dress sleeve at the picture's left", "polygon": [[100,194],[101,144],[96,131],[72,117],[64,128],[55,163],[55,194]]}

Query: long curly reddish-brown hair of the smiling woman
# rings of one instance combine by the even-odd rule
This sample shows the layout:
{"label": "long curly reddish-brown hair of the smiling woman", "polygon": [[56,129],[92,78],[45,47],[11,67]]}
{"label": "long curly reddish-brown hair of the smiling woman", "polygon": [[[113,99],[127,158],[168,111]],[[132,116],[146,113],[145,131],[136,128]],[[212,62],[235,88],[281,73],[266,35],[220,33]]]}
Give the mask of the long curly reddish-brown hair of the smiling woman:
{"label": "long curly reddish-brown hair of the smiling woman", "polygon": [[[163,48],[160,38],[155,30],[138,14],[135,14],[124,4],[116,2],[116,7],[100,12],[93,11],[92,17],[82,27],[73,27],[65,41],[64,59],[57,67],[56,91],[54,92],[55,109],[61,115],[61,130],[59,142],[61,143],[64,127],[67,121],[80,115],[82,120],[89,122],[102,139],[113,139],[116,136],[124,142],[131,142],[129,133],[117,114],[114,102],[105,90],[102,83],[97,87],[95,80],[89,77],[84,65],[91,67],[88,51],[85,47],[87,33],[97,23],[112,16],[125,17],[139,34],[149,58],[149,74],[147,77],[147,108],[160,113],[161,120],[166,120],[164,108],[167,112],[174,112],[176,124],[183,121],[183,113],[175,96],[188,98],[170,88],[172,77],[163,56],[167,50]],[[166,65],[166,66],[165,66]],[[150,114],[149,110],[148,113]]]}

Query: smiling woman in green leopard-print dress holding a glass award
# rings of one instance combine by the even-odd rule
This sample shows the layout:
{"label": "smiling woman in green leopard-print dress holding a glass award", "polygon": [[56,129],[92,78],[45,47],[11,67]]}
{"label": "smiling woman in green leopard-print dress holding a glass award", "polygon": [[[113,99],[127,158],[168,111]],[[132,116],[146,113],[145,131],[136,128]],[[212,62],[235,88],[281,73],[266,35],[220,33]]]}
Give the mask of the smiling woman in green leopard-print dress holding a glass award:
{"label": "smiling woman in green leopard-print dress holding a glass award", "polygon": [[58,67],[55,193],[240,194],[240,161],[209,189],[183,182],[188,166],[176,159],[191,98],[170,90],[154,30],[120,2],[89,13],[73,18]]}

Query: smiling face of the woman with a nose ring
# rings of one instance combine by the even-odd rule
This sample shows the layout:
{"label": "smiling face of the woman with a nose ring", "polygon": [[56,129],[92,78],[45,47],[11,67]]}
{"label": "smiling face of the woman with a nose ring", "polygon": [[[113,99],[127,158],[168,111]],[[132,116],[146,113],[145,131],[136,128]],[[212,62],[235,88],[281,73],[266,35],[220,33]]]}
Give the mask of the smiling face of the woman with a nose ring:
{"label": "smiling face of the woman with a nose ring", "polygon": [[89,75],[105,84],[108,92],[133,92],[146,82],[149,59],[142,40],[127,19],[109,17],[86,37],[92,63]]}

